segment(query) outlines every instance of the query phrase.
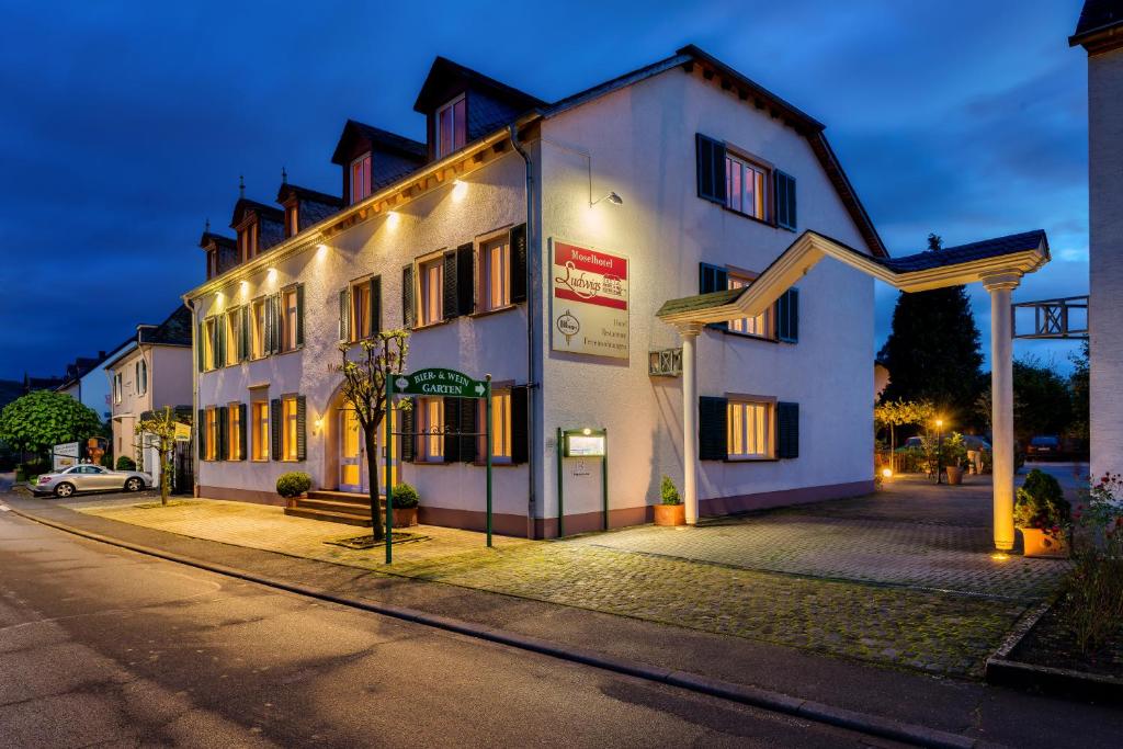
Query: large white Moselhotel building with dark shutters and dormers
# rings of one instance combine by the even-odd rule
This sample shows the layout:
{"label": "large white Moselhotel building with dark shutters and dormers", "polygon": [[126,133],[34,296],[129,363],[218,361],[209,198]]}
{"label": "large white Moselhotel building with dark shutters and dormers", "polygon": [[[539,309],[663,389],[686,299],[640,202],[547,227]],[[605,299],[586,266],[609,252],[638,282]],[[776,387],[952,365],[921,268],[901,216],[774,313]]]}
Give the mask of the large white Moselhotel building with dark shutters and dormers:
{"label": "large white Moselhotel building with dark shutters and dormers", "polygon": [[[605,464],[609,524],[645,522],[693,451],[664,303],[750,284],[809,229],[886,255],[823,126],[693,46],[554,103],[438,58],[414,109],[427,143],[347,122],[343,200],[283,185],[282,208],[238,201],[236,238],[204,235],[184,296],[200,496],[279,503],[287,471],[365,492],[338,344],[405,326],[409,371],[492,376],[497,532],[557,535],[559,481],[565,532],[602,527]],[[873,490],[869,275],[814,265],[704,328],[696,362],[701,514]],[[474,403],[421,399],[398,426],[475,431]],[[605,463],[559,469],[558,430],[581,428],[606,430]],[[422,522],[483,527],[478,440],[394,453]]]}

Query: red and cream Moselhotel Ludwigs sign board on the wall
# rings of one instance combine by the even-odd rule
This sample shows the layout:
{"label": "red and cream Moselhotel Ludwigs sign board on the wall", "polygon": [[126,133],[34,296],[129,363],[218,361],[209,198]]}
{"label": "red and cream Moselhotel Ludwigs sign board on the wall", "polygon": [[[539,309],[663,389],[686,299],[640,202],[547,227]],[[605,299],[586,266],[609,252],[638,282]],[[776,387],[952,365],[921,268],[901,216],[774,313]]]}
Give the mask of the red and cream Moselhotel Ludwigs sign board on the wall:
{"label": "red and cream Moselhotel Ludwigs sign board on the wall", "polygon": [[628,258],[557,238],[553,259],[553,349],[628,358]]}

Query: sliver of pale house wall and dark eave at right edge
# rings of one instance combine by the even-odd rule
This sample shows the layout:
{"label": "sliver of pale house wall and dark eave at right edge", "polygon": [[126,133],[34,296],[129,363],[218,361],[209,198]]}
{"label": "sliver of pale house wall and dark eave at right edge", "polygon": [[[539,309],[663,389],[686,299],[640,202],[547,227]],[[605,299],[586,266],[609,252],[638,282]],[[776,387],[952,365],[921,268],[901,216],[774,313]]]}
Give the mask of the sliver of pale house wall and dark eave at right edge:
{"label": "sliver of pale house wall and dark eave at right edge", "polygon": [[1086,0],[1092,475],[1123,472],[1123,0]]}

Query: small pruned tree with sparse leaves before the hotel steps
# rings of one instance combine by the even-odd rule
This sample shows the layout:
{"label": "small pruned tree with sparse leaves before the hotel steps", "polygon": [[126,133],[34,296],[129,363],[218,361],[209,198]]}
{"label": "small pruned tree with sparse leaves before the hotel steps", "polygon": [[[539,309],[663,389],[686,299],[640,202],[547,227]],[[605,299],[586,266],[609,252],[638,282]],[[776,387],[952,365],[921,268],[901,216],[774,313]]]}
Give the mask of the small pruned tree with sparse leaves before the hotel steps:
{"label": "small pruned tree with sparse leaves before the hotel steps", "polygon": [[[383,536],[382,515],[378,511],[378,427],[386,415],[386,380],[405,371],[410,351],[408,330],[383,330],[359,341],[359,355],[348,356],[351,344],[339,344],[343,363],[337,369],[343,374],[343,396],[355,410],[363,429],[366,447],[367,482],[371,495],[371,530],[374,540]],[[408,402],[402,408],[410,408]]]}

